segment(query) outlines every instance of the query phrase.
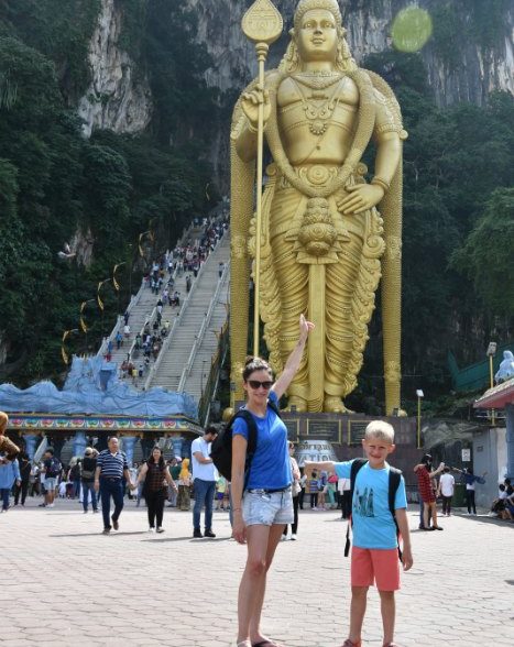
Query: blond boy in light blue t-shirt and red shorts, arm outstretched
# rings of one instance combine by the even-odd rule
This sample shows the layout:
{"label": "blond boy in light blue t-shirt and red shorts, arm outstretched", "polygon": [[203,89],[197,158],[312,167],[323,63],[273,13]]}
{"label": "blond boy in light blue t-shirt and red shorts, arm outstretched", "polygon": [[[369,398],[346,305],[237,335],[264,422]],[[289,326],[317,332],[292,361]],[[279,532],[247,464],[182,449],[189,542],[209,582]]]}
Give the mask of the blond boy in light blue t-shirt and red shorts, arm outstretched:
{"label": "blond boy in light blue t-shirt and red shorts, arm outstretched", "polygon": [[[361,647],[368,589],[373,583],[381,599],[383,645],[397,647],[394,643],[394,592],[400,589],[398,544],[389,505],[390,465],[385,460],[395,449],[393,427],[389,423],[373,420],[365,429],[362,447],[368,462],[359,470],[353,484],[350,634],[342,647]],[[327,470],[340,479],[349,479],[352,462],[305,461],[305,472]],[[403,476],[396,491],[394,509],[403,539],[403,568],[408,571],[413,566],[413,556]]]}

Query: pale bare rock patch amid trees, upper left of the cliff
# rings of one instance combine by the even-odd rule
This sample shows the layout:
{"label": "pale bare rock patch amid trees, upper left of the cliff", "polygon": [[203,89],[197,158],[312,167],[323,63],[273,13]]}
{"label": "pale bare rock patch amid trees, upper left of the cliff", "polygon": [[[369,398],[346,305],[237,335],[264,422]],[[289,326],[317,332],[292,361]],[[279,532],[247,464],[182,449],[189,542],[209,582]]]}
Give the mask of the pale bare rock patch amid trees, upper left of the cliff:
{"label": "pale bare rock patch amid trees, upper left of the cliff", "polygon": [[135,75],[136,65],[118,45],[121,7],[116,0],[101,0],[89,44],[91,83],[78,105],[86,136],[96,128],[118,133],[138,132],[150,122],[152,99],[147,79]]}

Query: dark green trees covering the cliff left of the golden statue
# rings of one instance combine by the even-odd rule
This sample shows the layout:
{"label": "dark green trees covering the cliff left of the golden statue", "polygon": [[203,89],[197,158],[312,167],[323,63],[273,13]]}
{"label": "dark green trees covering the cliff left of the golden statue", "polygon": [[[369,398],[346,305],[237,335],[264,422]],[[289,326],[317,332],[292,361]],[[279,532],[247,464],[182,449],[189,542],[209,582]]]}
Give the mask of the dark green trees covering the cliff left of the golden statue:
{"label": "dark green trees covering the cliff left of the golden statue", "polygon": [[[193,44],[193,26],[182,25],[190,17],[169,3],[131,2],[130,17],[144,15],[147,29],[138,33],[129,21],[124,44],[141,53],[138,74],[153,89],[153,121],[141,136],[96,131],[86,140],[75,106],[89,83],[99,7],[98,0],[0,3],[0,340],[8,349],[0,379],[20,384],[62,370],[63,331],[78,327],[80,301],[95,297],[120,262],[127,263],[118,274],[123,307],[140,232],[152,229],[154,251],[164,250],[206,208],[210,168],[201,156],[214,95],[201,78],[208,61]],[[57,257],[76,234],[92,245],[87,267]],[[102,297],[107,331],[117,299],[109,286]],[[95,306],[87,319],[96,346]],[[84,338],[70,343],[84,350]]]}

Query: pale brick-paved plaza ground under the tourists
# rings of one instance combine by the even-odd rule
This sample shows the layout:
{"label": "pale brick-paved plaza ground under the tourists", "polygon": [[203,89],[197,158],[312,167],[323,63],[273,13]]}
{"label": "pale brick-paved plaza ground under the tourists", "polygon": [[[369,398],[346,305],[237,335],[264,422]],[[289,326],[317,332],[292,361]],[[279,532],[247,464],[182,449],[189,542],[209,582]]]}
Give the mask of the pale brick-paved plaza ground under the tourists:
{"label": "pale brick-paved plaza ground under the tourists", "polygon": [[[52,511],[29,502],[0,515],[2,647],[234,645],[243,547],[192,540],[190,515],[166,509],[166,533],[145,533],[145,511],[129,503],[120,531],[78,504]],[[287,647],[335,647],[348,628],[349,560],[339,513],[304,512],[298,541],[278,547],[264,629]],[[417,518],[411,515],[412,527]],[[397,596],[402,647],[514,645],[514,524],[457,515],[444,533],[413,533],[415,567]],[[375,591],[364,645],[381,646]]]}

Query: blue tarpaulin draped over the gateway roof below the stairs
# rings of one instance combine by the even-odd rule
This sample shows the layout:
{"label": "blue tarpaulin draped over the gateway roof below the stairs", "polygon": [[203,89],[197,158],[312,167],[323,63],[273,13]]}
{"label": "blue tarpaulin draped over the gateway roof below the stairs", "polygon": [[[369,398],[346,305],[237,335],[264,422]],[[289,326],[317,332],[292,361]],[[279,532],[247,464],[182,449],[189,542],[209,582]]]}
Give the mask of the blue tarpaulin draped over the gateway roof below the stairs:
{"label": "blue tarpaulin draped over the gateway roof below the stairs", "polygon": [[102,358],[74,358],[63,391],[48,381],[25,390],[1,384],[0,410],[158,417],[183,414],[197,419],[198,405],[189,394],[158,386],[135,391],[118,379],[117,369]]}

